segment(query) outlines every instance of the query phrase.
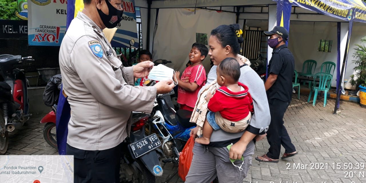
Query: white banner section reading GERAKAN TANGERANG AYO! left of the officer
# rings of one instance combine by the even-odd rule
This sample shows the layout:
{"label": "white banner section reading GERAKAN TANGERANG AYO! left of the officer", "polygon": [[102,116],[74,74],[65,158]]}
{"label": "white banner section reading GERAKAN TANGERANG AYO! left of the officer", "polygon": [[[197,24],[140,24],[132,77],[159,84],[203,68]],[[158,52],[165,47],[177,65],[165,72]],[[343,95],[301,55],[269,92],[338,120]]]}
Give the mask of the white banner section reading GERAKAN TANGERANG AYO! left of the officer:
{"label": "white banner section reading GERAKAN TANGERANG AYO! left of the officer", "polygon": [[66,31],[67,0],[30,0],[28,43],[60,46]]}

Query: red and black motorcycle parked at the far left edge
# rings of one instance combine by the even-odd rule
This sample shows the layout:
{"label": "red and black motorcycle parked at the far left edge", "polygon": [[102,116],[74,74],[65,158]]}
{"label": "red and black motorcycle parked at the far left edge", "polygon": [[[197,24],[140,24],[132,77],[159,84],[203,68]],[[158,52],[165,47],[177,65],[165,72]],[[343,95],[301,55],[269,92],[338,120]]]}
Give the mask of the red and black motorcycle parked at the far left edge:
{"label": "red and black motorcycle parked at the far left edge", "polygon": [[24,125],[29,119],[28,81],[22,70],[15,68],[33,57],[0,55],[0,154],[8,149],[8,133]]}

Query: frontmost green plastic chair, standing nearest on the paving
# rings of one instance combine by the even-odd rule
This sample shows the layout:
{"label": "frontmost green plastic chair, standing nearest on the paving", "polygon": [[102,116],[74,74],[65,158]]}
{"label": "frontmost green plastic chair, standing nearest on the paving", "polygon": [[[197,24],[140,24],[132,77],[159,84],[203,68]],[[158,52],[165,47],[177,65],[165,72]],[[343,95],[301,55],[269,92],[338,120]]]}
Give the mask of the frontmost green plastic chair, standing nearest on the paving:
{"label": "frontmost green plastic chair, standing nearest on the paving", "polygon": [[[330,89],[329,86],[330,86],[330,82],[332,82],[333,76],[329,73],[326,73],[326,72],[318,72],[317,74],[314,75],[313,78],[314,78],[313,86],[310,89],[309,99],[307,100],[307,102],[310,102],[311,94],[313,93],[313,90],[314,90],[315,93],[314,93],[314,99],[313,99],[313,106],[315,106],[315,101],[317,100],[318,91],[324,91],[324,105],[323,105],[323,107],[325,107],[325,105],[326,105],[326,94],[328,93],[328,91]],[[317,82],[315,82],[315,80],[317,78],[319,78],[319,84],[317,84]]]}

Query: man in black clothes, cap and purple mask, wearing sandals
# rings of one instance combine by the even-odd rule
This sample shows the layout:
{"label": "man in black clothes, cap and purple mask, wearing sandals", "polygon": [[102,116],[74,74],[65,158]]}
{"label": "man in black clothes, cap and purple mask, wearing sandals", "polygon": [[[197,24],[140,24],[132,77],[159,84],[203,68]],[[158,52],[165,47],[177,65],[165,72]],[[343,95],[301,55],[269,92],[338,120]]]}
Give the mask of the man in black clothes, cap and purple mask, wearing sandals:
{"label": "man in black clothes, cap and purple mask, wearing sandals", "polygon": [[268,153],[256,157],[258,161],[278,163],[281,145],[285,148],[282,159],[297,154],[295,146],[283,125],[283,115],[291,102],[292,75],[294,75],[294,56],[287,48],[288,31],[284,27],[276,26],[273,30],[264,32],[269,36],[268,45],[273,48],[272,58],[269,61],[269,76],[264,84],[271,123],[267,131],[267,140],[270,145]]}

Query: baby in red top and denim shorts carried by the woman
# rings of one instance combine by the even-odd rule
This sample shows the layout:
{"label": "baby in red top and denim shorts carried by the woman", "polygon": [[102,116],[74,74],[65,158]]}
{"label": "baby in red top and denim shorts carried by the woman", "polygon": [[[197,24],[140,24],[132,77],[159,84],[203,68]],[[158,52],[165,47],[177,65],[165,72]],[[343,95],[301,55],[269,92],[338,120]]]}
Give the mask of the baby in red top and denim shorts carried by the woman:
{"label": "baby in red top and denim shorts carried by the woman", "polygon": [[201,144],[209,144],[213,130],[220,128],[226,132],[240,132],[249,125],[251,113],[254,112],[253,100],[248,87],[238,82],[240,65],[234,58],[224,59],[216,68],[217,84],[221,87],[212,96],[208,93],[203,137],[195,139]]}

